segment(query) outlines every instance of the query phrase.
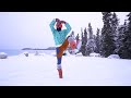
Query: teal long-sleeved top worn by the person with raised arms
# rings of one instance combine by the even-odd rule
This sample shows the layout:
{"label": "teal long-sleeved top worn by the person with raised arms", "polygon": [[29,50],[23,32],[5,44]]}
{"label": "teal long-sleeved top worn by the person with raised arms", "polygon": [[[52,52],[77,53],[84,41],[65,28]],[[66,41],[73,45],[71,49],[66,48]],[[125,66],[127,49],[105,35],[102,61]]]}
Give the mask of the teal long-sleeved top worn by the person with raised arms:
{"label": "teal long-sleeved top worn by the person with raised arms", "polygon": [[52,35],[53,35],[53,39],[55,39],[55,44],[56,46],[58,45],[62,45],[63,41],[66,40],[67,38],[67,35],[70,33],[71,30],[71,26],[69,25],[69,23],[66,23],[66,27],[67,29],[61,29],[60,32],[58,32],[56,28],[55,28],[55,24],[56,24],[56,21],[52,20],[52,22],[49,24],[50,28],[51,28],[51,32],[52,32]]}

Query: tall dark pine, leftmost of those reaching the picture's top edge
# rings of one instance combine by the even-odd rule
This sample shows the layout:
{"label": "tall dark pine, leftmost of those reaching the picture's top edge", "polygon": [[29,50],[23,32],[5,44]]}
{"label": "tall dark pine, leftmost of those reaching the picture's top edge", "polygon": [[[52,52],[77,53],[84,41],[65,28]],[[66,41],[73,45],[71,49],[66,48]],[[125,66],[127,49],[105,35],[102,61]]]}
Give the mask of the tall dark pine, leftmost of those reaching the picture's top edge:
{"label": "tall dark pine, leftmost of those reaching the picture's top edge", "polygon": [[115,40],[111,27],[111,13],[102,12],[104,27],[102,28],[102,56],[108,57],[115,51]]}

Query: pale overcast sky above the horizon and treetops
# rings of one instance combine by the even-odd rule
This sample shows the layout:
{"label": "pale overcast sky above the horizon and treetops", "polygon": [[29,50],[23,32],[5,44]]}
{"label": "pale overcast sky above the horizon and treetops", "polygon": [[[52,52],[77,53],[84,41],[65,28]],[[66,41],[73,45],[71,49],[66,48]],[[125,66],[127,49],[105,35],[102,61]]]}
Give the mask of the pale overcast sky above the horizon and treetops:
{"label": "pale overcast sky above the horizon and treetops", "polygon": [[[123,24],[129,12],[116,12]],[[49,23],[58,17],[68,22],[75,35],[91,23],[94,34],[103,27],[100,12],[0,12],[0,49],[55,46]]]}

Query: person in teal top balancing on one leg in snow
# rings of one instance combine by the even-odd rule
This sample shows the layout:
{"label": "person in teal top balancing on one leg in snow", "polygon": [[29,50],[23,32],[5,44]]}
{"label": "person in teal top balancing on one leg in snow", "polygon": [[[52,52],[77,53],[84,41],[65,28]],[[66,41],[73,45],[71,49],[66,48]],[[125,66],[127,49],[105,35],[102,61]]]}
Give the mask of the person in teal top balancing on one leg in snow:
{"label": "person in teal top balancing on one leg in snow", "polygon": [[[56,24],[56,28],[55,28]],[[67,29],[62,29],[62,24],[67,27]],[[56,44],[56,52],[57,52],[57,70],[59,73],[59,78],[62,78],[62,66],[61,66],[61,60],[63,56],[63,51],[68,48],[69,44],[73,40],[72,37],[68,36],[68,34],[71,32],[71,26],[69,23],[64,21],[60,21],[59,19],[53,19],[51,23],[49,24],[55,44]],[[68,37],[67,37],[68,36]]]}

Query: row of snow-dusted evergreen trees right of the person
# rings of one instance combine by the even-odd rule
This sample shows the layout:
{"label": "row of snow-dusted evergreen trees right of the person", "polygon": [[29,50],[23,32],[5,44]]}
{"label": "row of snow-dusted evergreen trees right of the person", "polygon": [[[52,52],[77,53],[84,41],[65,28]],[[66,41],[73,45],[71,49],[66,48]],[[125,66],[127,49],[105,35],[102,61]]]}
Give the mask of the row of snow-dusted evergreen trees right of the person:
{"label": "row of snow-dusted evergreen trees right of the person", "polygon": [[[88,23],[87,27],[81,28],[82,46],[80,52],[90,56],[92,52],[100,53],[104,58],[110,54],[119,54],[122,59],[131,59],[131,12],[127,14],[122,25],[115,12],[102,12],[103,28],[97,28],[96,35]],[[80,39],[78,34],[75,39]]]}

